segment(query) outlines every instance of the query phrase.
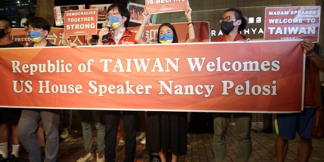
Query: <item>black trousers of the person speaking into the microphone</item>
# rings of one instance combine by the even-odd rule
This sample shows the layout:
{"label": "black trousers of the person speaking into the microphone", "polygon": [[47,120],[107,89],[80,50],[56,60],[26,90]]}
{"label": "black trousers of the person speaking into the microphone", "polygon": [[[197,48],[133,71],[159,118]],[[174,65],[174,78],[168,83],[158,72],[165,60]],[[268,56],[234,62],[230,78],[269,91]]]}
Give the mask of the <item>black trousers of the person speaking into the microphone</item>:
{"label": "black trousers of the person speaking into the microphone", "polygon": [[[136,129],[137,111],[123,111],[122,117],[125,127],[125,160],[133,162],[136,153]],[[120,111],[107,111],[104,114],[106,134],[105,134],[105,158],[108,162],[116,160],[117,130],[119,124]]]}

